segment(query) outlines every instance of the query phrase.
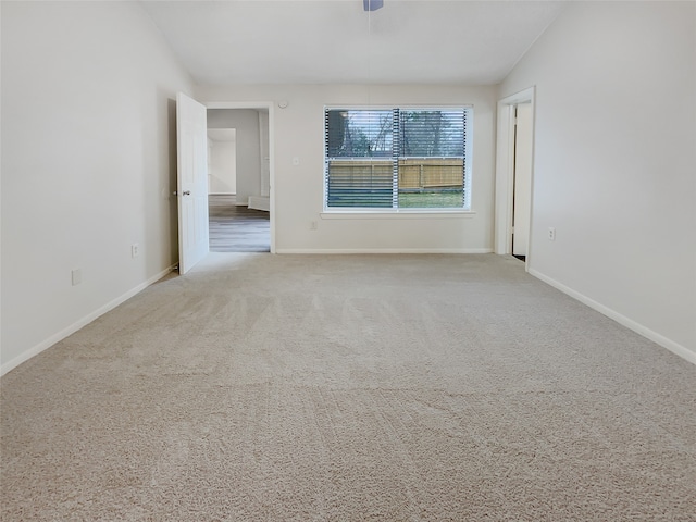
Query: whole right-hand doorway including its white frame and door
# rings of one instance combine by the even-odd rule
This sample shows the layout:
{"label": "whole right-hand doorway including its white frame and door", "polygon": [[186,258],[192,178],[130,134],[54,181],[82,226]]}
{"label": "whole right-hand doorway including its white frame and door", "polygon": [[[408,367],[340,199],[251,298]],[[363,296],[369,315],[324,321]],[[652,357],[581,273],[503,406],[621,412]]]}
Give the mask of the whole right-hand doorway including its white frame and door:
{"label": "whole right-hand doorway including its white frame and door", "polygon": [[495,252],[529,270],[533,239],[534,87],[498,101]]}

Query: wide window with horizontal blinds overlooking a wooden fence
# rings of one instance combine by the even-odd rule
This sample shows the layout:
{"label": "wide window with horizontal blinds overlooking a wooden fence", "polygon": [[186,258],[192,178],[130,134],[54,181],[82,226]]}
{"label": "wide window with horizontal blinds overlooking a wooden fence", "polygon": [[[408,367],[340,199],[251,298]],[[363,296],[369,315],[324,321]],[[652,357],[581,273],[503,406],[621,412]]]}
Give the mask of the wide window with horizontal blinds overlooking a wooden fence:
{"label": "wide window with horizontal blinds overlooking a wooden fence", "polygon": [[469,209],[471,109],[326,109],[326,209]]}

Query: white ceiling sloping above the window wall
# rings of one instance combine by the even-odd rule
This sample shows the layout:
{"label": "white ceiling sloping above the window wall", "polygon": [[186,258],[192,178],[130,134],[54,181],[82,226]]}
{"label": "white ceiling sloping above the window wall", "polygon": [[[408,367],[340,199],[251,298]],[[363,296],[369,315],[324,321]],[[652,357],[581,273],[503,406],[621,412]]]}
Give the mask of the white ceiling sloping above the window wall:
{"label": "white ceiling sloping above the window wall", "polygon": [[497,84],[566,5],[532,0],[142,1],[198,84]]}

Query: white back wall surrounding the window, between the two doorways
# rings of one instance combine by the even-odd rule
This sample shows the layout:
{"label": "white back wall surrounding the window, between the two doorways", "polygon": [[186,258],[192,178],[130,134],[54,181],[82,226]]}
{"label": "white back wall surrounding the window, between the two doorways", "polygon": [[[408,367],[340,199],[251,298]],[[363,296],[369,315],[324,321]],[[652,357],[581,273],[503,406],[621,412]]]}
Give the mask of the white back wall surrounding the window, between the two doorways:
{"label": "white back wall surrounding the window, between the two doorways", "polygon": [[[495,87],[198,86],[203,102],[287,101],[274,110],[278,252],[492,251]],[[473,104],[474,213],[335,216],[323,213],[324,105]],[[299,159],[294,165],[293,159]],[[239,170],[237,171],[239,173]],[[316,229],[311,229],[316,223]]]}

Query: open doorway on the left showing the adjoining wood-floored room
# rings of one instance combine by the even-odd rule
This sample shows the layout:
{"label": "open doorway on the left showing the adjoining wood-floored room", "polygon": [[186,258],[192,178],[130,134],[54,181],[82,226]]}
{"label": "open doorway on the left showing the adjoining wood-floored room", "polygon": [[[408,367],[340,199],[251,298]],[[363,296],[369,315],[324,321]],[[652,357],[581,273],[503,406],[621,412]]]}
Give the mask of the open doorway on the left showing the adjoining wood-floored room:
{"label": "open doorway on the left showing the adjoining wood-floored room", "polygon": [[211,252],[270,252],[269,110],[208,109]]}

